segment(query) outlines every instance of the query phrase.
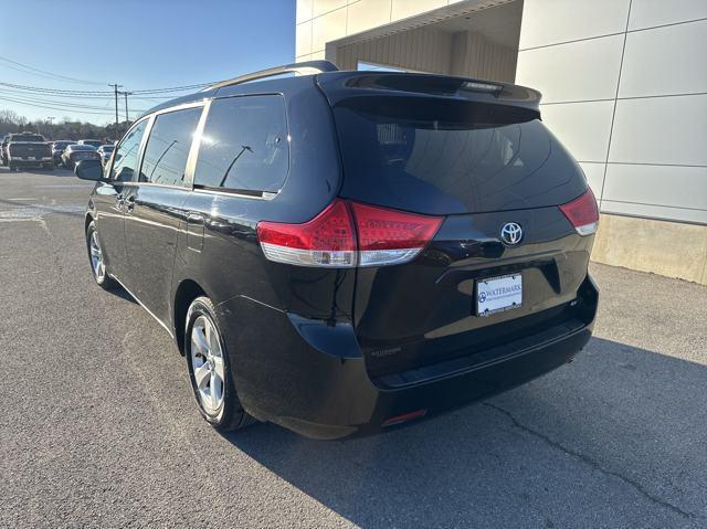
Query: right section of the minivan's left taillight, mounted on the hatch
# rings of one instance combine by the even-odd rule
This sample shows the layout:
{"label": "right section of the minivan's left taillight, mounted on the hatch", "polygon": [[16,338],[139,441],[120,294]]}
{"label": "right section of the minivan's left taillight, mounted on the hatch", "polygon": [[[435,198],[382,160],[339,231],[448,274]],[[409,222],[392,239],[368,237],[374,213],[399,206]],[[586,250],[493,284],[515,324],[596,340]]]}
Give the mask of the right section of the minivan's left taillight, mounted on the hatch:
{"label": "right section of the minivan's left taillight, mounted on the hatch", "polygon": [[428,245],[442,224],[436,216],[418,215],[351,203],[358,235],[359,265],[405,263]]}

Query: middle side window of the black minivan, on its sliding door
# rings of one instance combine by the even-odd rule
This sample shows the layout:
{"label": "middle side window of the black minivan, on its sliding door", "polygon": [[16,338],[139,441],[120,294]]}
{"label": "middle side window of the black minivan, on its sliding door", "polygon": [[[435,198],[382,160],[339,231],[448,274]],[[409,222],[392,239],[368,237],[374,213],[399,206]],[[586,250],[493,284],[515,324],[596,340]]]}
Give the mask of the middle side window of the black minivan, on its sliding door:
{"label": "middle side window of the black minivan, on its sliding door", "polygon": [[182,186],[187,158],[202,108],[160,114],[147,139],[140,182]]}

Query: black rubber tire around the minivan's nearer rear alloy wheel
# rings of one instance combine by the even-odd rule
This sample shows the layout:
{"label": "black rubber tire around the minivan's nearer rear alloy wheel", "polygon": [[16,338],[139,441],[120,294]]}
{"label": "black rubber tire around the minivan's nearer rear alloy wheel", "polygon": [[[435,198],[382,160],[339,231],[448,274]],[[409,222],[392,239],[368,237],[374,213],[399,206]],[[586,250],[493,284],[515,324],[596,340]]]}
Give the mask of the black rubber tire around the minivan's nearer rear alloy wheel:
{"label": "black rubber tire around the minivan's nearer rear alloy wheel", "polygon": [[[221,349],[221,358],[223,359],[223,399],[221,404],[213,411],[208,410],[202,402],[202,396],[200,396],[200,391],[194,377],[194,362],[192,361],[192,356],[201,356],[201,358],[203,359],[203,355],[199,350],[193,350],[196,348],[192,348],[191,340],[194,322],[197,322],[198,320],[202,321],[202,318],[208,319],[209,322],[213,326],[212,329],[215,331],[215,335],[218,337]],[[194,299],[189,306],[189,310],[187,311],[187,321],[184,326],[184,352],[191,389],[194,392],[194,399],[197,400],[199,412],[204,417],[204,420],[220,432],[240,430],[254,423],[255,420],[251,415],[249,415],[241,405],[241,401],[235,390],[235,383],[233,381],[229,351],[225,348],[223,336],[221,335],[221,329],[219,328],[219,322],[217,319],[215,310],[213,308],[213,304],[211,303],[211,299],[205,296],[201,296]]]}

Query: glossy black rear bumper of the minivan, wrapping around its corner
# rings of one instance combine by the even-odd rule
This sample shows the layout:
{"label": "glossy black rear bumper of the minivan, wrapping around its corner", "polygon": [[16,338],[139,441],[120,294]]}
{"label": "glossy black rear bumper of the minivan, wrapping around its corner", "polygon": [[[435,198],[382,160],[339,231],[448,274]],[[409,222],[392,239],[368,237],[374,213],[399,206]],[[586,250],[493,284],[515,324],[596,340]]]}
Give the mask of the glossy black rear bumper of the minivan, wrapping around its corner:
{"label": "glossy black rear bumper of the minivan, wrapping around its corner", "polygon": [[[595,314],[597,289],[589,278],[585,285],[593,296],[581,320],[499,346],[485,357],[378,379],[369,377],[349,325],[327,326],[244,297],[220,304],[218,313],[229,351],[238,351],[232,366],[246,411],[305,436],[333,440],[388,430],[387,422],[409,413],[432,416],[572,360],[590,339]],[[229,327],[233,320],[238,329]]]}

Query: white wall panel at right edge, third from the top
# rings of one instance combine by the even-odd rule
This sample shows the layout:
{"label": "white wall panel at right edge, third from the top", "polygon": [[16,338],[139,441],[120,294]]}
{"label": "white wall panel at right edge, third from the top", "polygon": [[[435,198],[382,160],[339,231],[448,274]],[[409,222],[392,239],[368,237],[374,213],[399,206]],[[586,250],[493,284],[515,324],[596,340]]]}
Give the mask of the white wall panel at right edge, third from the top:
{"label": "white wall panel at right edge, third from the top", "polygon": [[610,161],[707,166],[707,95],[620,99]]}

